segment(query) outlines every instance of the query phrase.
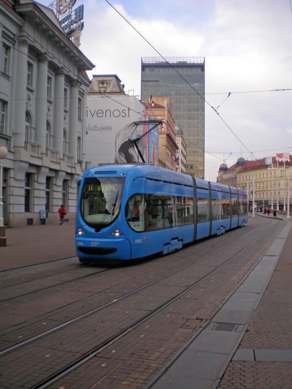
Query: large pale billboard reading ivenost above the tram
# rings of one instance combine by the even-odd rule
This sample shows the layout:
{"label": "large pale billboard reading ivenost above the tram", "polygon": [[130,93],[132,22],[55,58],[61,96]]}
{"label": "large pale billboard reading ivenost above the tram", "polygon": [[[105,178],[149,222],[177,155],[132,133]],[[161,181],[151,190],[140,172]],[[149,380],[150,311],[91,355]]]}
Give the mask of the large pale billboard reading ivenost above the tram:
{"label": "large pale billboard reading ivenost above the tram", "polygon": [[[148,124],[135,127],[133,122],[149,120],[144,106],[135,96],[87,96],[85,159],[91,166],[99,163],[142,162],[128,139],[148,130]],[[153,126],[150,124],[150,127]],[[150,143],[149,143],[150,142]],[[149,147],[148,147],[149,145]],[[158,165],[158,129],[139,143],[146,161]],[[154,159],[154,162],[153,162]]]}

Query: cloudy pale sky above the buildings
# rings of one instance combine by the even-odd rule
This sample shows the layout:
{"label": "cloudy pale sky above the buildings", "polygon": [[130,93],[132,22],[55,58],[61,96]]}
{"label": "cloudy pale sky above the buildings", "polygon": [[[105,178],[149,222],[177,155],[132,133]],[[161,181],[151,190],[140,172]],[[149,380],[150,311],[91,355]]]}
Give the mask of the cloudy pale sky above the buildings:
{"label": "cloudy pale sky above the buildings", "polygon": [[205,57],[205,179],[224,160],[292,154],[292,0],[82,3],[90,78],[117,74],[140,95],[141,57],[159,56],[110,4],[164,57]]}

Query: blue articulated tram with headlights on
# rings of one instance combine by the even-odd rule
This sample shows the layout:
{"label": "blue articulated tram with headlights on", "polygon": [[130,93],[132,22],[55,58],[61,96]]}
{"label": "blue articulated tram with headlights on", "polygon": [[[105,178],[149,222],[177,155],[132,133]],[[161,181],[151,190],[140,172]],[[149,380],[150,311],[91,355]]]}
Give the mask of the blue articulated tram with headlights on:
{"label": "blue articulated tram with headlights on", "polygon": [[245,191],[148,164],[92,167],[78,185],[81,262],[166,254],[248,221]]}

